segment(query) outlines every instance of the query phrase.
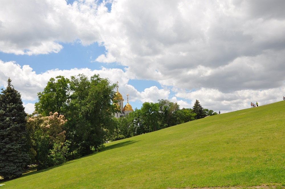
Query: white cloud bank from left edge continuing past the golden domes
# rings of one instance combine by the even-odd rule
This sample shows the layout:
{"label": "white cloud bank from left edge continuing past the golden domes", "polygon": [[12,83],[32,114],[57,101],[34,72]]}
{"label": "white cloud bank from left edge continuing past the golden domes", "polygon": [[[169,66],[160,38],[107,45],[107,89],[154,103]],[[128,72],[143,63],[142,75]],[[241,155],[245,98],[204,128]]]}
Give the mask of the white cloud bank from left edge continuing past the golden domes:
{"label": "white cloud bank from left edge continuing past the golden domes", "polygon": [[37,100],[37,93],[43,91],[51,77],[55,78],[58,75],[70,78],[78,74],[84,74],[87,77],[99,74],[101,78],[108,78],[111,83],[119,82],[119,92],[123,95],[123,98],[126,98],[125,100],[127,100],[126,95],[129,94],[130,102],[157,102],[158,99],[168,99],[170,93],[169,90],[158,89],[156,86],[147,88],[143,92],[138,92],[134,86],[127,84],[129,79],[131,79],[128,74],[122,69],[117,68],[107,69],[101,67],[100,70],[91,70],[88,68],[70,70],[52,69],[41,74],[36,74],[29,65],[21,67],[16,62],[3,62],[1,60],[0,67],[0,86],[7,87],[7,80],[10,77],[12,79],[11,84],[21,94],[25,111],[30,114],[34,111],[34,101]]}

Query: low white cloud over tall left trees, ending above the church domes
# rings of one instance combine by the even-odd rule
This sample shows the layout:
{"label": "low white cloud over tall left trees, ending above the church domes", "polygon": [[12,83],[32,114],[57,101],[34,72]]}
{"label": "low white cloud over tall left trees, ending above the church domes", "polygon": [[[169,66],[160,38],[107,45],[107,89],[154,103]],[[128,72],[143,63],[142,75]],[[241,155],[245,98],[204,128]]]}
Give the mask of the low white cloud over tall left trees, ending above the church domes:
{"label": "low white cloud over tall left trees, ending above the church domes", "polygon": [[37,99],[37,93],[43,91],[46,83],[51,77],[55,78],[62,75],[70,78],[70,76],[84,74],[88,77],[99,74],[101,78],[108,78],[115,83],[119,78],[119,82],[127,84],[128,76],[121,69],[107,69],[102,67],[100,70],[91,70],[88,68],[70,69],[70,70],[48,70],[41,74],[32,71],[29,65],[21,67],[15,62],[3,62],[0,60],[0,85],[7,86],[7,80],[12,79],[12,85],[21,93],[23,100],[34,101]]}

